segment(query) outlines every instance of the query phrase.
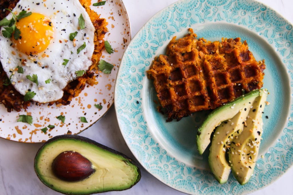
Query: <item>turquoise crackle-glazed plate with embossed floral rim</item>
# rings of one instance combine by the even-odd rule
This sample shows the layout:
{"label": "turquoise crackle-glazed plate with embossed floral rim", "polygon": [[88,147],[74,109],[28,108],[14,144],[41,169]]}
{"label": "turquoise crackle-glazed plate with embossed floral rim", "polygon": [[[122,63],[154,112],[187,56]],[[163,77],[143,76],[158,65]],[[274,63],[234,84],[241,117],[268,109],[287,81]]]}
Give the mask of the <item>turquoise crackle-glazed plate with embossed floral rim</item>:
{"label": "turquoise crackle-glazed plate with embossed floral rim", "polygon": [[[241,37],[257,60],[265,59],[263,87],[270,92],[270,105],[263,114],[257,165],[244,186],[232,174],[219,184],[209,171],[207,154],[197,153],[197,127],[207,112],[166,122],[156,109],[146,70],[173,36],[183,37],[190,27],[211,41]],[[115,109],[134,156],[168,186],[188,194],[247,194],[275,181],[293,164],[292,80],[292,24],[278,13],[252,0],[183,0],[154,15],[130,42],[117,75]]]}

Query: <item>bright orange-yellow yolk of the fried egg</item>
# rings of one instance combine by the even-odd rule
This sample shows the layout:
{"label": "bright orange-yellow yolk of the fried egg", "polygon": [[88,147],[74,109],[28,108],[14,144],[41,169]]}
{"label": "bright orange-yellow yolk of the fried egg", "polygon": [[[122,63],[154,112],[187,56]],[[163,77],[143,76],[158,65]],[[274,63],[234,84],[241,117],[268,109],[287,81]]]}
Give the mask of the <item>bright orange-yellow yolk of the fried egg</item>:
{"label": "bright orange-yellow yolk of the fried egg", "polygon": [[13,39],[16,48],[27,54],[38,54],[50,44],[54,28],[49,18],[40,13],[32,13],[16,23],[20,38]]}

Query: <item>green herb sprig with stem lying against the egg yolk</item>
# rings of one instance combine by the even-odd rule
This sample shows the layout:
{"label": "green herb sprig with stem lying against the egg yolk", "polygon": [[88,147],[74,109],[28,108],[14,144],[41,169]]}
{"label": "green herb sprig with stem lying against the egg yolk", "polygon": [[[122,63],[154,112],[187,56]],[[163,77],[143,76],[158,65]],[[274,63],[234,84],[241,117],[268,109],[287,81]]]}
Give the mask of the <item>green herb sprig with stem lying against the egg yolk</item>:
{"label": "green herb sprig with stem lying against the egg yolk", "polygon": [[15,40],[18,40],[20,37],[20,30],[16,28],[16,21],[25,18],[31,15],[31,12],[27,12],[25,10],[21,11],[18,15],[15,15],[10,9],[6,9],[12,13],[12,18],[8,20],[7,18],[3,18],[0,21],[0,26],[8,26],[4,27],[5,30],[2,30],[3,36],[6,38],[11,38],[12,34]]}

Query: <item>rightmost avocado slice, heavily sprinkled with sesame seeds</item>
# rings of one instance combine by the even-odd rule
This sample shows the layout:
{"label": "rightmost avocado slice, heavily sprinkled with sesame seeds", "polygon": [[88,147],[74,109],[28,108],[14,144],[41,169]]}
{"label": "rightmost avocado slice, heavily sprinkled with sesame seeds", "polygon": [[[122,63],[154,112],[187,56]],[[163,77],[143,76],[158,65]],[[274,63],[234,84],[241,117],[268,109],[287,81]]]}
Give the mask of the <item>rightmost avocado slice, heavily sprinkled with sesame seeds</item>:
{"label": "rightmost avocado slice, heavily sprinkled with sesame seeds", "polygon": [[238,139],[234,139],[230,145],[230,166],[234,177],[241,185],[248,182],[256,164],[263,132],[262,114],[267,96],[268,92],[262,91],[255,99],[248,113],[246,126],[243,127]]}

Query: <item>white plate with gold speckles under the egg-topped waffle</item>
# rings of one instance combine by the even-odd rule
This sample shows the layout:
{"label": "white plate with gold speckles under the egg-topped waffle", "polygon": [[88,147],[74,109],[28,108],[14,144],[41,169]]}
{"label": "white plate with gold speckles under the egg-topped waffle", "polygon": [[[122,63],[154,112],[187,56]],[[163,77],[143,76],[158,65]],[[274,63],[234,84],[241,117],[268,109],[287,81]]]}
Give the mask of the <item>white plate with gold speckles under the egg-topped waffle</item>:
{"label": "white plate with gold speckles under the egg-topped waffle", "polygon": [[[126,9],[122,0],[106,1],[104,6],[92,6],[108,22],[108,40],[115,50],[113,54],[103,52],[102,59],[113,64],[110,74],[98,73],[98,84],[86,85],[81,94],[71,101],[68,106],[42,105],[30,106],[27,111],[8,113],[3,104],[0,104],[0,137],[19,142],[42,142],[60,134],[78,134],[98,121],[108,111],[114,101],[114,86],[117,71],[123,52],[130,41],[130,25]],[[94,105],[101,104],[99,110]],[[17,122],[19,115],[31,115],[33,124]],[[64,124],[56,117],[65,116]],[[86,117],[88,123],[81,122],[80,117]],[[54,129],[41,129],[48,125],[55,125]]]}

